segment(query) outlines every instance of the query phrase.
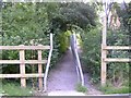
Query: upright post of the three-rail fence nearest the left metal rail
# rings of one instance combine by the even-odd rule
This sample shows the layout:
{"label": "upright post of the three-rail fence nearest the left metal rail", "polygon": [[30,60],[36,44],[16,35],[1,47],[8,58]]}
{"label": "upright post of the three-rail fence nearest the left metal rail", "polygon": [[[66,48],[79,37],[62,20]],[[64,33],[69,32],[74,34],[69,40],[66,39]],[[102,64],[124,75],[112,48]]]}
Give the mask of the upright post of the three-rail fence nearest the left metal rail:
{"label": "upright post of the three-rail fence nearest the left metal rail", "polygon": [[[41,46],[41,45],[38,45],[38,46]],[[41,50],[38,50],[38,60],[39,61],[41,60]],[[41,63],[38,63],[38,74],[39,74],[39,76],[43,74]],[[43,90],[43,77],[38,78],[38,87],[39,87],[39,90]]]}

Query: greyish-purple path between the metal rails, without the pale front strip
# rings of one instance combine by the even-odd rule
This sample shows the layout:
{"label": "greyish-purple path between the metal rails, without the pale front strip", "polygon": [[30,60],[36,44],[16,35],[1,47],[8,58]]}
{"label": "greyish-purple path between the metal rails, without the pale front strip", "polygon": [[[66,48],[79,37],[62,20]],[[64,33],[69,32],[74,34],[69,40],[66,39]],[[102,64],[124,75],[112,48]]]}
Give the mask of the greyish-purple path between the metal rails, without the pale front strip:
{"label": "greyish-purple path between the metal rails, without the pale front strip", "polygon": [[48,91],[75,90],[78,75],[72,52],[68,50],[48,76]]}

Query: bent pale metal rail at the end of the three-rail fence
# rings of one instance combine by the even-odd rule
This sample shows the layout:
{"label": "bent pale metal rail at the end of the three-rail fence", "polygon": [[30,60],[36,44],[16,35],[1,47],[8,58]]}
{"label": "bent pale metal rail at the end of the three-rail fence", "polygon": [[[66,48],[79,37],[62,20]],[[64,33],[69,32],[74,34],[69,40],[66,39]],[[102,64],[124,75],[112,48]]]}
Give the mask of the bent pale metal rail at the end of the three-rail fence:
{"label": "bent pale metal rail at the end of the three-rail fence", "polygon": [[45,76],[44,76],[44,91],[47,90],[47,76],[48,76],[49,66],[50,66],[51,54],[52,54],[52,34],[50,34],[50,51],[49,51]]}

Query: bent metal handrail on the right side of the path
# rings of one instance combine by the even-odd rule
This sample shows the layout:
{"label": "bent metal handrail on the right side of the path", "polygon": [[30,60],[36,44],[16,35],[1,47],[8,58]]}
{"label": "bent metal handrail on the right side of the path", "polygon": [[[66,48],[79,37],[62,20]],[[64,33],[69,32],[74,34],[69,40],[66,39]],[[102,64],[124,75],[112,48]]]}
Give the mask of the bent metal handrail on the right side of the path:
{"label": "bent metal handrail on the right side of the path", "polygon": [[78,46],[76,46],[76,35],[75,34],[71,35],[71,49],[72,49],[72,53],[76,60],[75,63],[76,63],[78,76],[80,76],[81,84],[82,84],[82,86],[84,86],[84,75],[83,75],[83,71],[82,71],[82,66],[81,66],[81,62],[80,62],[80,58],[79,58]]}

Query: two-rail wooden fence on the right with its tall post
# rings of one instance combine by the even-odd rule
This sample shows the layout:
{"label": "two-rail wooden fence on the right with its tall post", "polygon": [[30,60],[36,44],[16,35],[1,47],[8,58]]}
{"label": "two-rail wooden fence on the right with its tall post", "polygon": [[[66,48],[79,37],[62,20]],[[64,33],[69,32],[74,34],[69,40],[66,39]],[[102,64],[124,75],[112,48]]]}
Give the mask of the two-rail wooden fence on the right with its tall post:
{"label": "two-rail wooden fence on the right with its tall post", "polygon": [[129,46],[107,46],[107,9],[103,4],[105,13],[103,14],[103,34],[102,34],[102,71],[100,71],[100,84],[105,86],[106,84],[106,73],[108,62],[130,62],[129,58],[107,58],[108,50],[130,50]]}

